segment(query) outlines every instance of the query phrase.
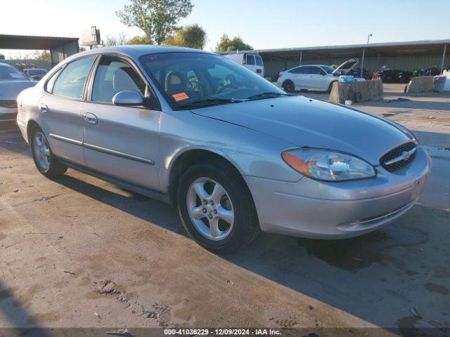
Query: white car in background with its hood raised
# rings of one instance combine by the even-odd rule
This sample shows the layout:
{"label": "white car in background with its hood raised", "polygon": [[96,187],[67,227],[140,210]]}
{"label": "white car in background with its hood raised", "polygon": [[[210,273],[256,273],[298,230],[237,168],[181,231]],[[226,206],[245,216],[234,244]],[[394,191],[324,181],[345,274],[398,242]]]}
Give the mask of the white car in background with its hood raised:
{"label": "white car in background with its hood raised", "polygon": [[[359,62],[351,58],[336,69],[329,65],[300,65],[278,74],[277,86],[286,92],[296,90],[331,91],[340,75],[348,74]],[[355,78],[357,81],[364,80]]]}

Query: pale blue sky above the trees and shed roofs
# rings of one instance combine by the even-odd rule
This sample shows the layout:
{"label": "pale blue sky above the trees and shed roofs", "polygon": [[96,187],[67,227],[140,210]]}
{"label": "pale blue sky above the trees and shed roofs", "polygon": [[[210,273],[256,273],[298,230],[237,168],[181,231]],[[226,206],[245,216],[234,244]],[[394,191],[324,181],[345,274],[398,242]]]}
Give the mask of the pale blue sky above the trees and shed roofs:
{"label": "pale blue sky above the trees and shed roofs", "polygon": [[[253,48],[294,48],[450,39],[449,0],[192,0],[179,25],[198,23],[213,51],[222,34],[240,36]],[[0,0],[0,34],[80,37],[95,25],[102,39],[140,29],[115,15],[127,0]],[[0,50],[8,57],[26,51]]]}

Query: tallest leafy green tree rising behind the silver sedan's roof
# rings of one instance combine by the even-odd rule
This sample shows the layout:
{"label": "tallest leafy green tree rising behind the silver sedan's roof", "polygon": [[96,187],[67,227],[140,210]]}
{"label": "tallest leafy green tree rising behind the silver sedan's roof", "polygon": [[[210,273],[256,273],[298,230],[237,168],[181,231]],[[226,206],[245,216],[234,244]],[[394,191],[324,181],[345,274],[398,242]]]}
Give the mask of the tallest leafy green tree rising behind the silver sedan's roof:
{"label": "tallest leafy green tree rising behind the silver sedan's roof", "polygon": [[181,18],[191,13],[191,0],[129,0],[124,11],[116,15],[124,25],[138,27],[146,34],[149,44],[161,44]]}

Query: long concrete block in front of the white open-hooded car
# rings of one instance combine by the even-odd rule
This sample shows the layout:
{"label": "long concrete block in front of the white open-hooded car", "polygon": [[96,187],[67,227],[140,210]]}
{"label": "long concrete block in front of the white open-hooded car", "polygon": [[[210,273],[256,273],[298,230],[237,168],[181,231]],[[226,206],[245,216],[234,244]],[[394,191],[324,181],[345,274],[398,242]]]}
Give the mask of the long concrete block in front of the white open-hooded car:
{"label": "long concrete block in front of the white open-hooded car", "polygon": [[344,104],[346,100],[365,102],[366,100],[383,100],[383,82],[352,81],[333,83],[328,101]]}

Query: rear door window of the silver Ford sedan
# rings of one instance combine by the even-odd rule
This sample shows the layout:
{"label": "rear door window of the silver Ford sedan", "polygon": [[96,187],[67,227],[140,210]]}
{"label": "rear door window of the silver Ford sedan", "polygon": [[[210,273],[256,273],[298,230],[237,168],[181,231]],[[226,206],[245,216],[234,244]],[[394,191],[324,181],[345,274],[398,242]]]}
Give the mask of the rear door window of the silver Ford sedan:
{"label": "rear door window of the silver Ford sedan", "polygon": [[86,84],[87,76],[95,59],[94,56],[91,56],[66,65],[53,84],[53,95],[81,99],[84,84]]}

